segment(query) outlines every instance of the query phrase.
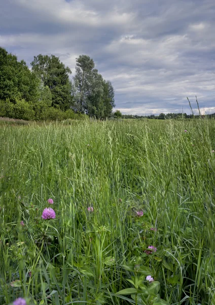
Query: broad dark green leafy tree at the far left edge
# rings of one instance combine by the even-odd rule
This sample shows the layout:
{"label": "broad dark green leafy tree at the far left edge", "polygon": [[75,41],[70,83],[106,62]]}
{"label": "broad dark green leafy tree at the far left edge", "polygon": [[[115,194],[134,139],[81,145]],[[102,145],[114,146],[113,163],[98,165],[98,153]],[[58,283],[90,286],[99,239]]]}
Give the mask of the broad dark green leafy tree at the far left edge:
{"label": "broad dark green leafy tree at the far left edge", "polygon": [[31,73],[24,60],[0,47],[0,100],[16,103],[24,99],[28,103],[38,100],[39,79]]}

